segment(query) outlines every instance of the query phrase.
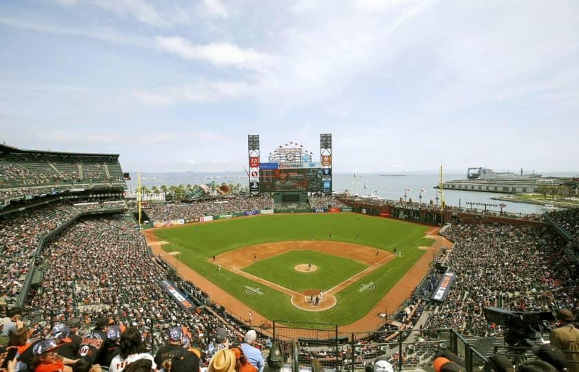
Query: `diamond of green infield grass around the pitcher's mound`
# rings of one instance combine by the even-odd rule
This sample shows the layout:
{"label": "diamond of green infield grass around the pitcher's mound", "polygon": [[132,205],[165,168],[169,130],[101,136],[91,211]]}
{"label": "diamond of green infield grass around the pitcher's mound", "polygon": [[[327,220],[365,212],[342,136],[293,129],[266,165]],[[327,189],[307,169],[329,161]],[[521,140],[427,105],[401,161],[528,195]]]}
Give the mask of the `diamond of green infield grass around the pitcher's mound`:
{"label": "diamond of green infield grass around the pitcher's mound", "polygon": [[[307,265],[308,263],[316,265],[318,269],[309,273],[301,273],[294,269],[296,265]],[[354,260],[329,254],[314,251],[291,251],[259,260],[245,267],[243,271],[282,287],[301,292],[306,289],[327,291],[366,267],[366,265]]]}

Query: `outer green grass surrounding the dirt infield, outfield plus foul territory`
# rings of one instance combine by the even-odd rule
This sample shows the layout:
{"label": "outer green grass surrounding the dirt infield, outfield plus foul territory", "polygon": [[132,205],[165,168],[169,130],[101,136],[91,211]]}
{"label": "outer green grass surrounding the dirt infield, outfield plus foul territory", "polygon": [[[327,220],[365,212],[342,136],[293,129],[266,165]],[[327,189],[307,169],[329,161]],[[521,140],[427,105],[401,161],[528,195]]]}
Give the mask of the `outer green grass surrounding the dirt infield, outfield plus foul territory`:
{"label": "outer green grass surrounding the dirt infield, outfield plus foul territory", "polygon": [[[163,245],[163,250],[181,252],[181,262],[267,318],[342,325],[365,316],[425,253],[418,247],[432,244],[431,239],[424,238],[427,229],[429,227],[423,225],[360,214],[280,214],[172,227],[156,230],[154,234],[170,243]],[[396,248],[403,255],[337,293],[338,304],[319,312],[297,309],[291,304],[289,296],[227,269],[217,272],[216,267],[207,260],[213,255],[247,245],[309,240],[311,236],[316,240],[325,240],[328,234],[332,234],[332,240],[385,251]],[[356,240],[356,234],[359,240]],[[360,285],[371,281],[376,287],[374,291],[359,291]],[[247,293],[246,286],[259,287],[263,295]],[[228,310],[235,313],[235,309]]]}

